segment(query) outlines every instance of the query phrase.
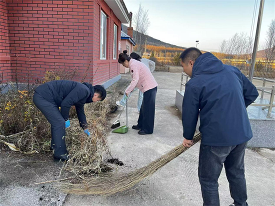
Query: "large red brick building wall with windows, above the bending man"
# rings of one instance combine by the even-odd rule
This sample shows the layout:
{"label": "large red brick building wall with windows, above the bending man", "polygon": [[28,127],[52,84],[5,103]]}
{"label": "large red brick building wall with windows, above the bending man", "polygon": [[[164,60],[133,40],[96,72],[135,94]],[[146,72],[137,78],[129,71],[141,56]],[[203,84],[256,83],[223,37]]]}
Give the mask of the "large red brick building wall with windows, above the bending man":
{"label": "large red brick building wall with windows, above the bending man", "polygon": [[[53,67],[77,68],[78,77],[74,80],[86,75],[86,81],[97,70],[93,83],[102,83],[119,74],[117,60],[112,59],[112,30],[115,21],[120,31],[120,21],[103,0],[6,2],[12,80],[15,73],[20,81],[25,81],[27,75],[41,78]],[[109,15],[106,60],[99,59],[100,8]]]}

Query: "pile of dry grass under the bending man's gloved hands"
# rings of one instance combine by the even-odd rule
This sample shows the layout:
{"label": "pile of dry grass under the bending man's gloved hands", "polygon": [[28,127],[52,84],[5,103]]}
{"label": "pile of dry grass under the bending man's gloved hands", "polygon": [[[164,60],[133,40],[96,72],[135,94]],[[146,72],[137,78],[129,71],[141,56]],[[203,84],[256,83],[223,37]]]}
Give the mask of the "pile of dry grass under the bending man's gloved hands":
{"label": "pile of dry grass under the bending man's gloved hands", "polygon": [[85,105],[90,137],[79,127],[77,118],[71,119],[71,126],[66,129],[66,143],[71,158],[63,166],[64,171],[73,172],[78,177],[84,177],[111,169],[103,161],[103,153],[108,152],[105,137],[109,111],[108,98],[102,102]]}

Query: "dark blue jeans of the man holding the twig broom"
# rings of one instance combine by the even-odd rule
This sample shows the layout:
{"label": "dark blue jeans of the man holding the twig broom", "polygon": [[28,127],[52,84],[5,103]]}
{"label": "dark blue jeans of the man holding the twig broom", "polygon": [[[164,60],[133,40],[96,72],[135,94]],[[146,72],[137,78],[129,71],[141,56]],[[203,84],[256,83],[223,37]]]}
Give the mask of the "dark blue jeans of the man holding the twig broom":
{"label": "dark blue jeans of the man holding the twig broom", "polygon": [[[203,206],[219,206],[218,177],[224,164],[231,197],[236,206],[246,203],[244,153],[247,142],[234,146],[207,146],[200,144],[198,177]],[[229,202],[228,202],[229,203]]]}

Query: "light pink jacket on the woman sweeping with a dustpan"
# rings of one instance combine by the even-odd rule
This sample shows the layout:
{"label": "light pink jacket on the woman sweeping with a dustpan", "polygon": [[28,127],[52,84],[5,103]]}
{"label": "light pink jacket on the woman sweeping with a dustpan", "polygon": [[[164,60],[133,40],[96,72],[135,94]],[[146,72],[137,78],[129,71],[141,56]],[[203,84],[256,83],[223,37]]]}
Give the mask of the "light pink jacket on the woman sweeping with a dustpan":
{"label": "light pink jacket on the woman sweeping with a dustpan", "polygon": [[125,93],[130,93],[134,87],[137,87],[143,93],[158,84],[153,75],[145,64],[135,59],[130,59],[129,68],[132,75],[130,85],[126,88]]}

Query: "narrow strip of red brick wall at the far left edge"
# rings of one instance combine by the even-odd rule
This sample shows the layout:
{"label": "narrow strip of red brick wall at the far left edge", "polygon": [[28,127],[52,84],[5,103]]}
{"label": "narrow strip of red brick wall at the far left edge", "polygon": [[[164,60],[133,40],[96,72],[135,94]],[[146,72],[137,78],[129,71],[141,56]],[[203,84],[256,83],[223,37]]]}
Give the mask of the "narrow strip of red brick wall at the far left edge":
{"label": "narrow strip of red brick wall at the far left edge", "polygon": [[0,0],[0,81],[11,80],[5,0]]}

